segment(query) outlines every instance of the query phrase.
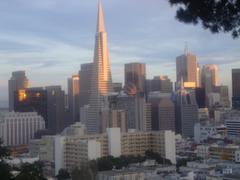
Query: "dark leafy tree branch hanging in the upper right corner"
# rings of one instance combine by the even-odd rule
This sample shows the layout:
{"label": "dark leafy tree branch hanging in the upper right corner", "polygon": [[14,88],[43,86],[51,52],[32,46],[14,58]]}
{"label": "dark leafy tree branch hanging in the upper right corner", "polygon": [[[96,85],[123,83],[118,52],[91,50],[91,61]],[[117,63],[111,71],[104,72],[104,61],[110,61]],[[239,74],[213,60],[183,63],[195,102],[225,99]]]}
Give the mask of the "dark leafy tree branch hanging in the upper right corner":
{"label": "dark leafy tree branch hanging in the upper right corner", "polygon": [[169,0],[177,5],[176,18],[184,23],[201,23],[213,33],[231,32],[240,36],[239,0]]}

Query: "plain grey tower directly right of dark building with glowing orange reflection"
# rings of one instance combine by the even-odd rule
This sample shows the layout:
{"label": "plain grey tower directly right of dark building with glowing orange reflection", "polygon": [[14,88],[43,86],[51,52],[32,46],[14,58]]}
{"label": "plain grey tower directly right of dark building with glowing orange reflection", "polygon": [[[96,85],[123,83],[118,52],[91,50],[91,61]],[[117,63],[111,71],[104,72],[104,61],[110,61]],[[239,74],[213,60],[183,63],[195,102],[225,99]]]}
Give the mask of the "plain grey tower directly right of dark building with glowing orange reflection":
{"label": "plain grey tower directly right of dark building with glowing orange reflection", "polygon": [[64,128],[65,92],[61,89],[61,86],[48,86],[46,87],[46,91],[48,129],[57,134]]}

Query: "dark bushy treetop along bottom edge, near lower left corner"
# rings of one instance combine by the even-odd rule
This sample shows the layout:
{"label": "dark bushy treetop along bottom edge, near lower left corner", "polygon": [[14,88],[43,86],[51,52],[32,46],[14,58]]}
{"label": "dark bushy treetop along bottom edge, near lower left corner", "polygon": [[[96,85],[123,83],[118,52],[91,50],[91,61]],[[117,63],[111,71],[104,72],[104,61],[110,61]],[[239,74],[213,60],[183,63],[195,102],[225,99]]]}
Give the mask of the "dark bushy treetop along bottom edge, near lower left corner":
{"label": "dark bushy treetop along bottom edge, near lower left corner", "polygon": [[43,175],[43,164],[41,162],[23,164],[16,180],[46,180]]}

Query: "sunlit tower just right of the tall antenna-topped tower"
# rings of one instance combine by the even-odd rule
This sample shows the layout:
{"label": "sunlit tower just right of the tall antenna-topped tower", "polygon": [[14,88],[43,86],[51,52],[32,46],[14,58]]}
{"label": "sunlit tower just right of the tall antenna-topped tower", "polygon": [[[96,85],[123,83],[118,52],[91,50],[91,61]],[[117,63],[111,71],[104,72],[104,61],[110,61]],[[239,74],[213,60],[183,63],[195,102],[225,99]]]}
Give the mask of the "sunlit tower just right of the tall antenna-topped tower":
{"label": "sunlit tower just right of the tall antenna-topped tower", "polygon": [[206,94],[213,92],[214,87],[218,86],[218,67],[215,64],[204,65],[202,68],[202,87]]}

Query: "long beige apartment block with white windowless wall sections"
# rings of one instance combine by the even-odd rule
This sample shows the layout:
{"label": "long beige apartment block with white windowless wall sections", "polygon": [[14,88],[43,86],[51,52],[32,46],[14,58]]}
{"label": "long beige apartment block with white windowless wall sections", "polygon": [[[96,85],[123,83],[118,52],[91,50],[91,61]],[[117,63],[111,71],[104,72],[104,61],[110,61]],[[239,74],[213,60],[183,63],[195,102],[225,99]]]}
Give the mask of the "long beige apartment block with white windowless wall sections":
{"label": "long beige apartment block with white windowless wall sections", "polygon": [[175,164],[175,133],[172,131],[121,133],[120,128],[109,128],[103,134],[56,136],[55,172],[61,168],[72,170],[89,160],[109,155],[144,156],[147,150],[157,152]]}

